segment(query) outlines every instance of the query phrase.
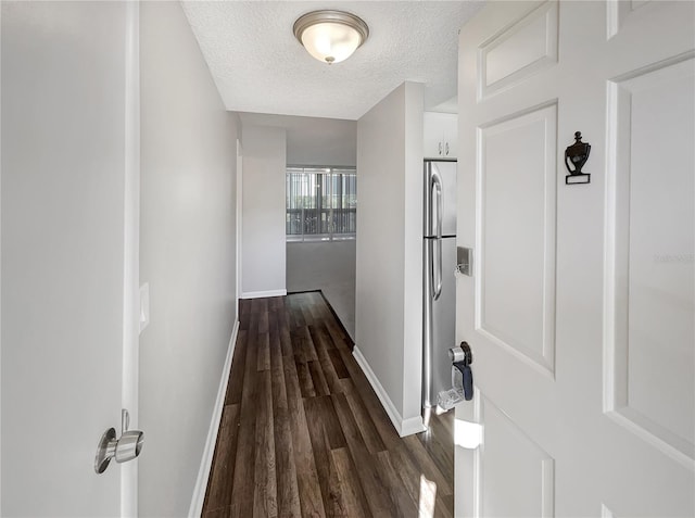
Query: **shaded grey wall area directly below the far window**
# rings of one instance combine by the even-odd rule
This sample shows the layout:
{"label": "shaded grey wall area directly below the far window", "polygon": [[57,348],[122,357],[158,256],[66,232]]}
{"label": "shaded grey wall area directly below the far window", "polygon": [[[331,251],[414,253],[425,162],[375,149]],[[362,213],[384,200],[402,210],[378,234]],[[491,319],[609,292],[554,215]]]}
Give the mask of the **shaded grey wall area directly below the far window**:
{"label": "shaded grey wall area directly below the far window", "polygon": [[355,240],[287,243],[287,291],[321,290],[355,338]]}

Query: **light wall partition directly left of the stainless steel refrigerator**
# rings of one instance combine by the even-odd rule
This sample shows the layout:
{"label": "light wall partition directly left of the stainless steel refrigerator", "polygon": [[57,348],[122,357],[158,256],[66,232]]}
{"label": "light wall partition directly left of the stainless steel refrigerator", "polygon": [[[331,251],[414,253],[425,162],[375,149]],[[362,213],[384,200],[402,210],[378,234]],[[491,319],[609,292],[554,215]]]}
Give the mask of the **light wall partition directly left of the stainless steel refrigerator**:
{"label": "light wall partition directly left of the stainless steel refrigerator", "polygon": [[357,122],[356,348],[401,433],[421,427],[422,94],[405,83]]}

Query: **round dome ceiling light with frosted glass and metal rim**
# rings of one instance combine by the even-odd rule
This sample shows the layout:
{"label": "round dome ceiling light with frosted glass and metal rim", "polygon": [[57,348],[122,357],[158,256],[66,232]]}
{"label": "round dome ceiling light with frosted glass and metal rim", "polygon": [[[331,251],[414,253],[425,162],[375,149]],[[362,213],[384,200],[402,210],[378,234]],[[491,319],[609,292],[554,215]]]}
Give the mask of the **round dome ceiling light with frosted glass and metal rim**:
{"label": "round dome ceiling light with frosted glass and metal rim", "polygon": [[306,51],[324,63],[340,63],[367,40],[369,27],[343,11],[312,11],[294,22],[294,36]]}

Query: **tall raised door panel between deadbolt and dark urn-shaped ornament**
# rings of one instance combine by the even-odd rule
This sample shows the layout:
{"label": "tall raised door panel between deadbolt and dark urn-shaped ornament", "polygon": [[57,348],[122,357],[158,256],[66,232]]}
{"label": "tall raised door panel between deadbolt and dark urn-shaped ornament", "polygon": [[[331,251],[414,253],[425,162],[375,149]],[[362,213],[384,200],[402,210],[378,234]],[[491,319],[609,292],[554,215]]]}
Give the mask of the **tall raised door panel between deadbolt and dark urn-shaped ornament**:
{"label": "tall raised door panel between deadbolt and dark urn-shaped ornament", "polygon": [[[476,179],[476,330],[551,378],[555,371],[556,128],[556,101],[480,126]],[[534,154],[526,155],[529,151]],[[529,163],[538,166],[533,169],[538,176],[521,177],[520,166]],[[508,239],[510,231],[515,240]],[[521,303],[508,292],[528,293],[528,299]]]}

